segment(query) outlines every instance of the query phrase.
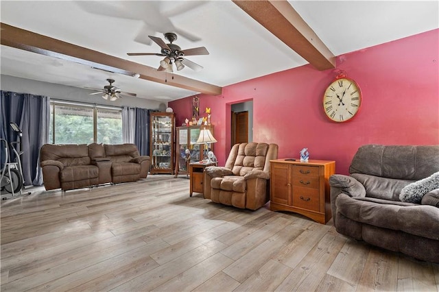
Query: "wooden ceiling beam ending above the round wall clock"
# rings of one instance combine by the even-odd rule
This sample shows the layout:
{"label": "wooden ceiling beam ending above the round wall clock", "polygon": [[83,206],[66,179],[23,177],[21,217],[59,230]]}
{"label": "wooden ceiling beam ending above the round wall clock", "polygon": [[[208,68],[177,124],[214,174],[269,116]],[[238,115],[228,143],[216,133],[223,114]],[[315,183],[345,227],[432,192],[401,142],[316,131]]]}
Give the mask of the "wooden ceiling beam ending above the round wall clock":
{"label": "wooden ceiling beam ending above the round wall clock", "polygon": [[255,21],[316,69],[335,68],[335,56],[287,1],[233,0]]}

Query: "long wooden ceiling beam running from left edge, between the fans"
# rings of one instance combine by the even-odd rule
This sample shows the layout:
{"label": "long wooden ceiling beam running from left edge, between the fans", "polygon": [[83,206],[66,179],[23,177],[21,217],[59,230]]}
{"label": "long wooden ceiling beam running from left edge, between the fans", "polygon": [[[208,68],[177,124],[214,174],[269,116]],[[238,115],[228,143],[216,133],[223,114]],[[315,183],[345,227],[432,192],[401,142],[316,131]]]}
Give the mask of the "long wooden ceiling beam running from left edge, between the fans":
{"label": "long wooden ceiling beam running from left edge, between the fans", "polygon": [[173,78],[166,78],[165,71],[157,71],[156,68],[150,66],[110,56],[105,53],[100,53],[99,51],[93,51],[92,49],[29,32],[28,30],[13,27],[5,23],[1,23],[0,38],[1,45],[8,47],[32,51],[45,56],[60,58],[62,60],[125,75],[139,73],[139,78],[143,80],[158,82],[208,95],[222,94],[222,87],[213,84],[200,82],[176,74],[173,74]]}

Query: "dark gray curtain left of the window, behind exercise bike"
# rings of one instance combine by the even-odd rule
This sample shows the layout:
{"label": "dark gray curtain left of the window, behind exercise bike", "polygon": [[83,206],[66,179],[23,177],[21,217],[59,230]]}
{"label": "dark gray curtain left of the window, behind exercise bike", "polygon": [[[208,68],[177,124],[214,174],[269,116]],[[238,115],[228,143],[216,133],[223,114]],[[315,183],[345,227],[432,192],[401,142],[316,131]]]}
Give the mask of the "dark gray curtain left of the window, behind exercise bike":
{"label": "dark gray curtain left of the window, behind exercise bike", "polygon": [[40,147],[49,141],[50,98],[1,90],[0,107],[1,138],[8,142],[20,141],[10,127],[10,122],[19,125],[23,132],[19,150],[23,151],[21,165],[25,185],[43,185],[43,173],[38,160]]}

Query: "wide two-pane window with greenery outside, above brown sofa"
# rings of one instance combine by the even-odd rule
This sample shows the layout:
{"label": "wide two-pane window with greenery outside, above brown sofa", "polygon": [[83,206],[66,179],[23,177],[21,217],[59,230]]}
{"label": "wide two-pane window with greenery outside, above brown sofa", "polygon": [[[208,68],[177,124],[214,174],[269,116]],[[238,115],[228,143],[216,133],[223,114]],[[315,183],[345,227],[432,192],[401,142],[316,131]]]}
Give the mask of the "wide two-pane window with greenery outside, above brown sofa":
{"label": "wide two-pane window with greenery outside, above brown sofa", "polygon": [[120,108],[52,101],[49,141],[54,144],[122,143]]}

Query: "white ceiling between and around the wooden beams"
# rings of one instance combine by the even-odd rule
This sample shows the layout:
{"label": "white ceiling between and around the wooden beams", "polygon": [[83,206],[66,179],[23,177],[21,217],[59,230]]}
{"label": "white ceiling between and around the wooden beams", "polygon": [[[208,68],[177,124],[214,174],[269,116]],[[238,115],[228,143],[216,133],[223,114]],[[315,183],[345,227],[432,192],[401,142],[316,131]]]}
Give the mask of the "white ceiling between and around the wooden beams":
{"label": "white ceiling between and around the wooden beams", "polygon": [[[289,1],[335,56],[439,27],[439,1]],[[158,67],[148,35],[176,32],[204,69],[177,74],[217,86],[307,64],[232,1],[1,1],[1,22],[111,56]],[[164,38],[163,38],[164,39]],[[171,101],[195,92],[1,46],[1,74],[102,88],[106,78],[138,97]],[[92,91],[91,91],[92,92]]]}

